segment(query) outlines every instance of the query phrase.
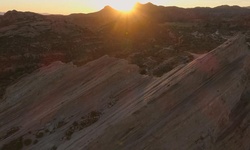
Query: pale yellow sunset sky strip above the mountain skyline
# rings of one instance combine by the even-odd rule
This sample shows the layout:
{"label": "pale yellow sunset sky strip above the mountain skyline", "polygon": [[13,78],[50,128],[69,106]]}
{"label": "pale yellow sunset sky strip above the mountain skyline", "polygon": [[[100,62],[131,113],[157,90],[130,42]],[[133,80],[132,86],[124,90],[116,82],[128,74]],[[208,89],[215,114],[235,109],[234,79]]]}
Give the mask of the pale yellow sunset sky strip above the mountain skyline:
{"label": "pale yellow sunset sky strip above the mountain skyline", "polygon": [[90,13],[110,5],[121,9],[125,5],[151,2],[156,5],[178,7],[215,7],[219,5],[250,6],[250,0],[0,0],[0,12],[8,10],[49,14]]}

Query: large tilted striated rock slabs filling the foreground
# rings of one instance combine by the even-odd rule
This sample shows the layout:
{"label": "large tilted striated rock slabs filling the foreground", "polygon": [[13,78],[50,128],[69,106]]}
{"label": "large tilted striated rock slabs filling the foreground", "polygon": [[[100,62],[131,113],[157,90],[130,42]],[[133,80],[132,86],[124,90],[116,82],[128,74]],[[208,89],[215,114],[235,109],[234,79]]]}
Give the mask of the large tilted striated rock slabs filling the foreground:
{"label": "large tilted striated rock slabs filling the foreground", "polygon": [[104,56],[55,62],[8,87],[2,149],[250,147],[249,50],[235,36],[162,77]]}

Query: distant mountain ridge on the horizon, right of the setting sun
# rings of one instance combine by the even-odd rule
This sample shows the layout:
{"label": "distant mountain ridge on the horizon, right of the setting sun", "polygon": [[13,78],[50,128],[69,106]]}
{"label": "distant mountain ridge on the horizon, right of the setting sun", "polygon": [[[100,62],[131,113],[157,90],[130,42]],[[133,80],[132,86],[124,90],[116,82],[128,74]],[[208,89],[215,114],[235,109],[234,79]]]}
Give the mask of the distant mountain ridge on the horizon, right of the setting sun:
{"label": "distant mountain ridge on the horizon, right of the setting sun", "polygon": [[192,21],[197,19],[231,18],[239,15],[250,15],[250,10],[239,6],[218,6],[215,8],[179,8],[156,6],[152,3],[140,4],[136,6],[137,11],[150,16],[159,22]]}

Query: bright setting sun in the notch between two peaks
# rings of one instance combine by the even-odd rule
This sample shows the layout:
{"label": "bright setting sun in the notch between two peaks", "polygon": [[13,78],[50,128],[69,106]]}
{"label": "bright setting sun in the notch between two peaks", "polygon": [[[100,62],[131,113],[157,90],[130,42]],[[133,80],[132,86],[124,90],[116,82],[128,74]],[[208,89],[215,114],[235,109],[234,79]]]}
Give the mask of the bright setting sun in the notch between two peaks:
{"label": "bright setting sun in the notch between two peaks", "polygon": [[136,0],[111,0],[110,6],[124,13],[129,13],[133,10]]}

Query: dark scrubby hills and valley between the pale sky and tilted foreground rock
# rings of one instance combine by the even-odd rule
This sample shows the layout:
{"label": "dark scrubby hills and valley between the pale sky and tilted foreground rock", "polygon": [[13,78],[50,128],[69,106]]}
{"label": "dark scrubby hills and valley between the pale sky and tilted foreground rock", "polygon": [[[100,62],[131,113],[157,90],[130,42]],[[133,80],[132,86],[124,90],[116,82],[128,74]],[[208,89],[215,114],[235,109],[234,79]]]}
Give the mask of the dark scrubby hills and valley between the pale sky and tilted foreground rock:
{"label": "dark scrubby hills and valley between the pale sky and tilted foreground rock", "polygon": [[[184,9],[137,4],[124,15],[107,6],[91,14],[0,15],[0,98],[23,75],[54,61],[80,66],[103,55],[122,58],[140,73],[162,76],[237,32],[250,45],[250,11],[237,6]],[[215,19],[216,18],[216,19]]]}

